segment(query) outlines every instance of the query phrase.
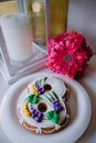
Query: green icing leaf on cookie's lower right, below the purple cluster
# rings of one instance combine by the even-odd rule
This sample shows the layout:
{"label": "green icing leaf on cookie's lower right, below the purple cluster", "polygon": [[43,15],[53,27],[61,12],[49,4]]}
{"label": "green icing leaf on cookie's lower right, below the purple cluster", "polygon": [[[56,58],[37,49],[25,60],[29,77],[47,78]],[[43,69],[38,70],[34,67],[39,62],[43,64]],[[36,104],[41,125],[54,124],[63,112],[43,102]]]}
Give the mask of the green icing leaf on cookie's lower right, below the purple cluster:
{"label": "green icing leaf on cookie's lower right, below the purple cluster", "polygon": [[54,123],[58,122],[58,114],[54,110],[46,112],[45,118]]}

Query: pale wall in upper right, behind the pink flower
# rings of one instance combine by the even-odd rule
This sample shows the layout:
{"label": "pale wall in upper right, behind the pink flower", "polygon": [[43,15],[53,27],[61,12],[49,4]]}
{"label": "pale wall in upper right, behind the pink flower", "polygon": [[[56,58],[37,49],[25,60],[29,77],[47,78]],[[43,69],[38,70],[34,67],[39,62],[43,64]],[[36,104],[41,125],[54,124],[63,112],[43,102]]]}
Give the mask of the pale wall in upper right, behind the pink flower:
{"label": "pale wall in upper right, behind the pink flower", "polygon": [[96,53],[96,0],[68,0],[67,30],[77,30]]}

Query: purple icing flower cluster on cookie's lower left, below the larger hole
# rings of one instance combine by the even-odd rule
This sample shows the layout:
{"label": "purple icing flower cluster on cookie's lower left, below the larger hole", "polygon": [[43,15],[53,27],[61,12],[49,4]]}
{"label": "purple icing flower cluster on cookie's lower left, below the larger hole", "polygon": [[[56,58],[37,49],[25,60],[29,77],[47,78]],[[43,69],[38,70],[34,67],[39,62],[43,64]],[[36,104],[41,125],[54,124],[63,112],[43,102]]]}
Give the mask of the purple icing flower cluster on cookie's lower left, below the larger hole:
{"label": "purple icing flower cluster on cookie's lower left, below the larger hole", "polygon": [[43,113],[40,112],[40,111],[36,111],[36,109],[34,109],[31,105],[30,107],[30,113],[31,113],[31,117],[34,118],[34,120],[36,122],[41,122],[42,121],[42,118],[43,118]]}

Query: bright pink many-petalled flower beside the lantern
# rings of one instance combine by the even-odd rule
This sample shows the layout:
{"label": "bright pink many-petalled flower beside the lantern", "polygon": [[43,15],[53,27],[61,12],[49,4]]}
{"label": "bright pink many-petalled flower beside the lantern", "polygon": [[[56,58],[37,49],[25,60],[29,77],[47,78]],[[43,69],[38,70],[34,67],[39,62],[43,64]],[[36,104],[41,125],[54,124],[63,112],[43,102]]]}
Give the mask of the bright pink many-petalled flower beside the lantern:
{"label": "bright pink many-petalled flower beside the lantern", "polygon": [[83,35],[71,31],[50,40],[46,67],[75,78],[83,74],[92,55]]}

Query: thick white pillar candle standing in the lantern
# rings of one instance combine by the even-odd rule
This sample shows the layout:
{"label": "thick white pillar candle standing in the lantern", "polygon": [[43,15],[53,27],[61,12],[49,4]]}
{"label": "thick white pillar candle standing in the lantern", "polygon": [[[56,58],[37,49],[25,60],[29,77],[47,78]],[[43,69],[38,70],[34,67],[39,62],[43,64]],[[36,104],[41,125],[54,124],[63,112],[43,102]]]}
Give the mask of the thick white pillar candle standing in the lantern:
{"label": "thick white pillar candle standing in the lantern", "polygon": [[1,29],[12,61],[22,62],[32,56],[32,35],[26,15],[15,13],[2,16]]}

